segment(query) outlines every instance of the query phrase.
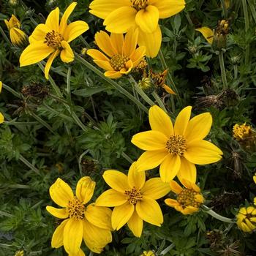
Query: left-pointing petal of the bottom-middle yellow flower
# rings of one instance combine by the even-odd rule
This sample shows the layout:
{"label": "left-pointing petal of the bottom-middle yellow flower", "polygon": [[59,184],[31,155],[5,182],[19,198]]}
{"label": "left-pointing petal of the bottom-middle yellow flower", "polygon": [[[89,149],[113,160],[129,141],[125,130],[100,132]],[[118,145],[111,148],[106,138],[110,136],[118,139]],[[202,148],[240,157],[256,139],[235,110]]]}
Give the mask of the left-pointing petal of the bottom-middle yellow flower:
{"label": "left-pointing petal of the bottom-middle yellow flower", "polygon": [[99,195],[97,198],[95,205],[96,206],[121,206],[122,204],[127,202],[127,197],[124,193],[117,192],[115,189],[108,189],[103,192],[102,195]]}

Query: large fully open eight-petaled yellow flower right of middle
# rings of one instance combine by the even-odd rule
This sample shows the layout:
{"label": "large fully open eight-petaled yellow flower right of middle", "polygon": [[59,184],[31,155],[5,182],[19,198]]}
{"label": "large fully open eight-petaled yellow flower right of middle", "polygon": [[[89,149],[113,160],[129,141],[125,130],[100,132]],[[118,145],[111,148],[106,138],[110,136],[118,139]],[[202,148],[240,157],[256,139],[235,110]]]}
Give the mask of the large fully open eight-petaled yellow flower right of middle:
{"label": "large fully open eight-petaled yellow flower right of middle", "polygon": [[137,161],[139,171],[160,165],[162,181],[169,182],[176,175],[195,183],[196,165],[219,161],[222,151],[203,138],[211,129],[210,113],[203,113],[189,120],[191,106],[181,110],[174,127],[164,110],[154,105],[148,117],[151,131],[140,132],[132,137],[132,143],[146,150]]}

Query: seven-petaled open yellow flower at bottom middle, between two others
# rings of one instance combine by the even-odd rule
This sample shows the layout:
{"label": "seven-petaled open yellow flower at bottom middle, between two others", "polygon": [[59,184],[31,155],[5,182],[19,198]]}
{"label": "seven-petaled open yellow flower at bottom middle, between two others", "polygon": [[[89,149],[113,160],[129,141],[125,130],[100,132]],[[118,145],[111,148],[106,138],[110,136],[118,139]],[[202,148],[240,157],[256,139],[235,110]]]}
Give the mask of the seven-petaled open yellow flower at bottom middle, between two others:
{"label": "seven-petaled open yellow flower at bottom middle, between two others", "polygon": [[146,181],[145,173],[136,170],[136,162],[129,168],[128,176],[118,170],[106,170],[103,178],[111,189],[103,192],[95,204],[114,207],[111,217],[114,230],[127,223],[132,233],[140,237],[143,220],[152,225],[162,224],[162,211],[156,200],[170,192],[168,184],[160,178]]}

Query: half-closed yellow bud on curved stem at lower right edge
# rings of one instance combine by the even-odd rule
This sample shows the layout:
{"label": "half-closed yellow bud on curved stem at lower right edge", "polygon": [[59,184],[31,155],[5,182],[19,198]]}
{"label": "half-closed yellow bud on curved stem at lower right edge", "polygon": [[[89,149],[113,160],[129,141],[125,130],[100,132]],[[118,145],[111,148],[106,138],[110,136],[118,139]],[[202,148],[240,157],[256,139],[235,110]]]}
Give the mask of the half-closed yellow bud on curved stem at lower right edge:
{"label": "half-closed yellow bud on curved stem at lower right edge", "polygon": [[236,224],[244,232],[252,232],[256,229],[256,208],[253,206],[240,208],[236,215]]}

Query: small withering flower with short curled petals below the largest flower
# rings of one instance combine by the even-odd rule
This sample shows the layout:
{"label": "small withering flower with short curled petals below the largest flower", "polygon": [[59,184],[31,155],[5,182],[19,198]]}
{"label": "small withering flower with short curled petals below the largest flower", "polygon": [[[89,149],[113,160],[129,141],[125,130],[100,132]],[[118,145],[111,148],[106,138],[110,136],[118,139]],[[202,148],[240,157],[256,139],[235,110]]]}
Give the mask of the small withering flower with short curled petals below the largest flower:
{"label": "small withering flower with short curled petals below the largest flower", "polygon": [[184,184],[184,189],[176,181],[170,181],[170,189],[176,193],[177,200],[167,198],[165,203],[175,208],[176,211],[180,211],[181,214],[194,214],[203,203],[200,187],[186,179],[182,180],[182,184]]}

